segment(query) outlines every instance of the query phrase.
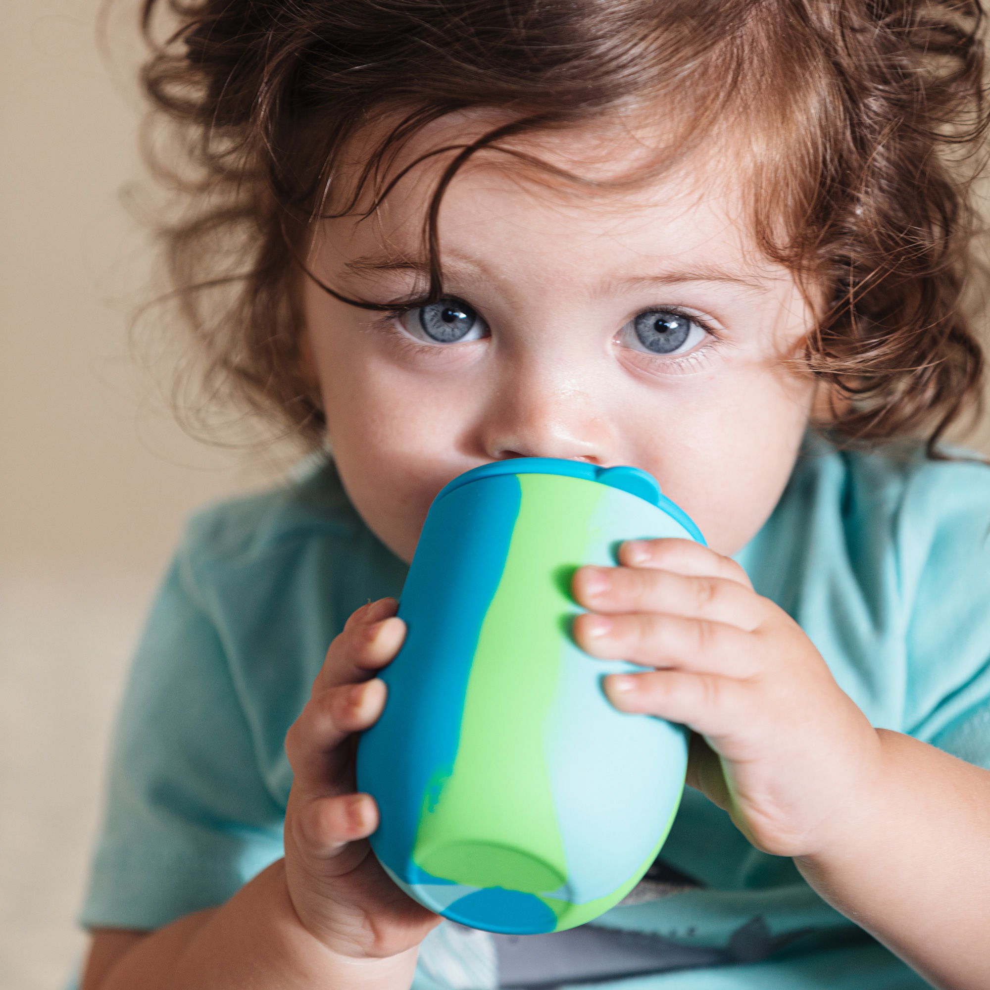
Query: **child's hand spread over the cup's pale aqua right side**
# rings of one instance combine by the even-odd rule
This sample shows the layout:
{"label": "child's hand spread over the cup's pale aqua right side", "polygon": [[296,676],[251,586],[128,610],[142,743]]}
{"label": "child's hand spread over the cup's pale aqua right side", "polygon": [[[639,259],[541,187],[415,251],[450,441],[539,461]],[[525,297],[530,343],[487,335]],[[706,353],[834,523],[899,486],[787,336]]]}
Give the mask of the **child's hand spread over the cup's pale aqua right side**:
{"label": "child's hand spread over the cup's pale aqua right side", "polygon": [[653,670],[613,674],[616,708],[693,730],[688,783],[765,852],[815,855],[869,805],[876,731],[801,628],[743,568],[687,540],[622,546],[620,567],[582,567],[576,642]]}

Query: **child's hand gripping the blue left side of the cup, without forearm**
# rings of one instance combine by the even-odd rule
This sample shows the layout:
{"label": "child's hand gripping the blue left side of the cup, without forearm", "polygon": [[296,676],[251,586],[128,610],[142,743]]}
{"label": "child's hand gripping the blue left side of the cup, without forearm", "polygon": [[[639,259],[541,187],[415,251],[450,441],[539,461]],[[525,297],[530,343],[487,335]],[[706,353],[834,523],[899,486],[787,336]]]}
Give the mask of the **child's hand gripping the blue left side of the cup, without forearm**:
{"label": "child's hand gripping the blue left side of the cup, without forearm", "polygon": [[311,935],[352,958],[406,951],[441,921],[381,868],[367,841],[378,826],[377,806],[354,793],[353,734],[381,715],[385,685],[373,674],[406,634],[397,608],[383,598],[347,620],[285,740],[295,774],[285,814],[289,897]]}

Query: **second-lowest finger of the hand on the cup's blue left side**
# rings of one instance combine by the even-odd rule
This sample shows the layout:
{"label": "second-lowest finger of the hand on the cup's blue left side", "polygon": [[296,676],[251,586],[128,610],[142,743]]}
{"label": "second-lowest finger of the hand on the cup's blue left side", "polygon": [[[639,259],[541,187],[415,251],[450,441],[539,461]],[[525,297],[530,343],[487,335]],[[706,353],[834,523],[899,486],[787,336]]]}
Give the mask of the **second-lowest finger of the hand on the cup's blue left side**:
{"label": "second-lowest finger of the hand on the cup's blue left side", "polygon": [[312,698],[285,737],[294,783],[306,793],[340,793],[341,769],[349,751],[342,743],[372,726],[385,707],[383,681],[329,688]]}

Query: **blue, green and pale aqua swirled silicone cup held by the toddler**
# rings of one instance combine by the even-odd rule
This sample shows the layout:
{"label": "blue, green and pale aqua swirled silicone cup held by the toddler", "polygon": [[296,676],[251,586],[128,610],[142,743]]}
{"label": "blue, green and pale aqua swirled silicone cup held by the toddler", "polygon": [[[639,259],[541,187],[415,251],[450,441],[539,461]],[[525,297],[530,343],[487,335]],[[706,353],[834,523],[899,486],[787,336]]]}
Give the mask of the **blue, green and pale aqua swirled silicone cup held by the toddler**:
{"label": "blue, green and pale aqua swirled silicone cup held by the toddler", "polygon": [[446,918],[513,935],[561,931],[620,901],[680,802],[686,733],[607,701],[604,664],[573,643],[570,579],[625,540],[697,527],[636,468],[548,458],[455,478],[430,509],[361,738],[379,861]]}

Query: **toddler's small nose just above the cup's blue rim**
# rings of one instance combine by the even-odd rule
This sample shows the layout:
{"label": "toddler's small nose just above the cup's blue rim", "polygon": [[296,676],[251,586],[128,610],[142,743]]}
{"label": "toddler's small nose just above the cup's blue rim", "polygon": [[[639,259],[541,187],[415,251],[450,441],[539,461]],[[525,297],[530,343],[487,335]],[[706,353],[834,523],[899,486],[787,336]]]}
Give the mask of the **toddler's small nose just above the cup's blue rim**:
{"label": "toddler's small nose just above the cup's blue rim", "polygon": [[481,444],[493,460],[562,457],[611,463],[611,431],[586,383],[565,374],[516,371],[487,404]]}

